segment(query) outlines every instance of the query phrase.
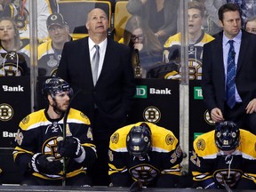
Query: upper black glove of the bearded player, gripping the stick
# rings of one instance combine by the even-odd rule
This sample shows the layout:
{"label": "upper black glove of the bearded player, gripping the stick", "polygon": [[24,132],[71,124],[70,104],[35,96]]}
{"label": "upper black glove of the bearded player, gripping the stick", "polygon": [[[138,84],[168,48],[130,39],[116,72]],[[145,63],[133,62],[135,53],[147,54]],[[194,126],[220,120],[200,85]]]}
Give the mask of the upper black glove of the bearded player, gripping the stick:
{"label": "upper black glove of the bearded player, gripping the stick", "polygon": [[80,140],[75,137],[66,137],[63,140],[62,137],[57,138],[58,141],[58,153],[60,156],[77,158],[82,155],[82,148]]}

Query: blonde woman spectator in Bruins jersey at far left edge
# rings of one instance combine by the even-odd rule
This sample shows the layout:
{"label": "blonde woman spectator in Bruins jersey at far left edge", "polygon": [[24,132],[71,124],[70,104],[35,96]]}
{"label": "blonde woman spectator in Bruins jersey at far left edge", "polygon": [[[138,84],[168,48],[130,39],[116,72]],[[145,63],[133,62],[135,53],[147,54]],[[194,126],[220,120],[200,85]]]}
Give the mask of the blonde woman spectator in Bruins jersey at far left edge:
{"label": "blonde woman spectator in Bruins jersey at far left edge", "polygon": [[0,76],[27,76],[28,56],[29,47],[22,47],[15,22],[0,18]]}

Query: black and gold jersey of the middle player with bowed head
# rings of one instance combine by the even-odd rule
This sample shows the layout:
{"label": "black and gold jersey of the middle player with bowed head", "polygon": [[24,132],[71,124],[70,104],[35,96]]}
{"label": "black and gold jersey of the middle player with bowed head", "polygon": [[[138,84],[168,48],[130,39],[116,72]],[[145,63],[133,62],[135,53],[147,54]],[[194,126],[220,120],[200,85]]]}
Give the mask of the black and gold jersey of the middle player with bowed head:
{"label": "black and gold jersey of the middle player with bowed head", "polygon": [[121,183],[124,183],[124,180],[127,180],[125,186],[131,185],[128,182],[131,177],[133,181],[140,180],[143,185],[148,185],[160,174],[180,176],[182,150],[179,140],[171,131],[156,124],[147,123],[151,130],[151,148],[148,156],[129,155],[126,148],[126,136],[133,126],[139,126],[141,123],[124,126],[114,132],[110,138],[108,174],[114,186],[122,186]]}

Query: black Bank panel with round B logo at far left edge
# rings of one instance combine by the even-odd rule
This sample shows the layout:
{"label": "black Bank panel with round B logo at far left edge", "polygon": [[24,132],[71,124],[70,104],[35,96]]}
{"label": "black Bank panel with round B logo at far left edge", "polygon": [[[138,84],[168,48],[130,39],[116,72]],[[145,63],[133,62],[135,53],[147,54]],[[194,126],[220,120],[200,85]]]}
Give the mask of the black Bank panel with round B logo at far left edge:
{"label": "black Bank panel with round B logo at far left edge", "polygon": [[0,148],[13,148],[19,123],[31,112],[29,76],[4,76],[0,81]]}

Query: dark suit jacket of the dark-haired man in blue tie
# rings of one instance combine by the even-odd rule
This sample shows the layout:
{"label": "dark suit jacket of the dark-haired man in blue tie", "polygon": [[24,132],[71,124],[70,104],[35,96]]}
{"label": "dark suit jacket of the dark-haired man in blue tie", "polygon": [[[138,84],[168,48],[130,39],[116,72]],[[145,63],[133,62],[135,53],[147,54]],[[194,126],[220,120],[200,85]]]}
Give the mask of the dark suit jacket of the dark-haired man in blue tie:
{"label": "dark suit jacket of the dark-haired man in blue tie", "polygon": [[[212,42],[204,44],[202,89],[206,108],[210,111],[220,108],[223,112],[226,94],[222,37],[223,32],[220,32]],[[237,61],[236,89],[244,110],[248,102],[256,98],[256,36],[245,31],[242,31]]]}

